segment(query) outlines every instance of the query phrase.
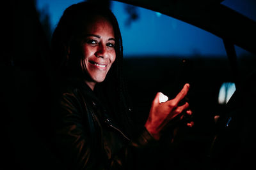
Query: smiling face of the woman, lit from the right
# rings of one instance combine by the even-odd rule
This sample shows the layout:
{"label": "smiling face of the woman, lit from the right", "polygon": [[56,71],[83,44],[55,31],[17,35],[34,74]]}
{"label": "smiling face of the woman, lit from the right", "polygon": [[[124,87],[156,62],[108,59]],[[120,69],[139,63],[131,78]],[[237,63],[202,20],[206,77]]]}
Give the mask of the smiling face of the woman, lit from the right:
{"label": "smiling face of the woman, lit from the right", "polygon": [[86,27],[82,52],[84,58],[81,64],[90,76],[86,83],[94,87],[96,83],[104,81],[116,59],[115,34],[106,18],[95,17]]}

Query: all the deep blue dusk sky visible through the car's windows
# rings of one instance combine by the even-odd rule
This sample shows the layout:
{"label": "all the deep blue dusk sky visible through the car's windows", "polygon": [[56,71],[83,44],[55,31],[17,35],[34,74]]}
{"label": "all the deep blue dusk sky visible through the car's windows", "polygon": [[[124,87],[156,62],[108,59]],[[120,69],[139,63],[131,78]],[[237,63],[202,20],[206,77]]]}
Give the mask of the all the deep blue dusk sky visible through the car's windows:
{"label": "all the deep blue dusk sky visible through the car's windows", "polygon": [[[46,10],[52,31],[65,8],[81,0],[37,0],[38,10]],[[254,0],[225,0],[224,5],[256,21]],[[125,12],[127,4],[113,1],[111,10],[118,19],[124,41],[124,56],[225,56],[221,38],[161,13],[137,8],[139,18],[130,25]],[[237,55],[246,53],[236,47]]]}

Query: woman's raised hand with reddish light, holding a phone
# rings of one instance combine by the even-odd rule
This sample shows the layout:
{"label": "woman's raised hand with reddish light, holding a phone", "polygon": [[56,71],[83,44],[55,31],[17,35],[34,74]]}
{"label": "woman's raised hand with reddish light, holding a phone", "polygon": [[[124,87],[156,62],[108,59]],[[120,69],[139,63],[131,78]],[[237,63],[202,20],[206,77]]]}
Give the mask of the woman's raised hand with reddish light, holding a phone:
{"label": "woman's raised hand with reddish light, holding a phone", "polygon": [[192,111],[188,110],[188,102],[179,106],[180,101],[188,94],[188,90],[189,84],[187,83],[174,99],[164,103],[159,102],[159,97],[163,96],[163,94],[161,92],[156,94],[145,124],[146,129],[155,139],[158,140],[160,138],[161,131],[164,127],[166,127],[173,118],[182,113],[182,111],[186,111],[188,115],[192,114]]}

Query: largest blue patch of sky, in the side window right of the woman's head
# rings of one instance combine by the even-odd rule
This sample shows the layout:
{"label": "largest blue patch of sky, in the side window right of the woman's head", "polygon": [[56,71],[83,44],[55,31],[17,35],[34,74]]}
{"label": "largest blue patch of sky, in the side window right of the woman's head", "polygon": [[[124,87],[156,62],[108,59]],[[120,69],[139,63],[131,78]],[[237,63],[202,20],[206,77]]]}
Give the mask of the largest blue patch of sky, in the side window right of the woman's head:
{"label": "largest blue patch of sky, in the side window right of the woman's head", "polygon": [[[222,39],[172,17],[145,8],[113,2],[120,24],[125,57],[226,55]],[[129,20],[127,9],[138,17]]]}

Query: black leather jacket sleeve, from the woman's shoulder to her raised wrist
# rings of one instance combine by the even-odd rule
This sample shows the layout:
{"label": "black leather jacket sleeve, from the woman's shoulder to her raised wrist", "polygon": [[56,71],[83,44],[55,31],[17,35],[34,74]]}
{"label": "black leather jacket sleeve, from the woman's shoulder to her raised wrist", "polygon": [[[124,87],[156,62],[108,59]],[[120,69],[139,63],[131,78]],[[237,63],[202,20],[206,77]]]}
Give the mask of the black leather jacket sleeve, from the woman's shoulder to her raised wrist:
{"label": "black leather jacket sleeve, from the woman's shoulder to her raised wrist", "polygon": [[81,106],[81,99],[74,94],[64,94],[58,110],[56,146],[70,169],[134,169],[143,157],[143,148],[154,141],[147,129],[143,129],[138,138],[108,160],[102,153],[102,143],[97,143],[100,137],[94,140],[97,133],[91,134],[90,120],[82,113],[84,106]]}

